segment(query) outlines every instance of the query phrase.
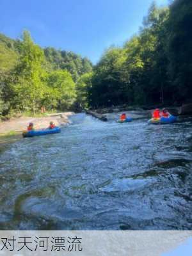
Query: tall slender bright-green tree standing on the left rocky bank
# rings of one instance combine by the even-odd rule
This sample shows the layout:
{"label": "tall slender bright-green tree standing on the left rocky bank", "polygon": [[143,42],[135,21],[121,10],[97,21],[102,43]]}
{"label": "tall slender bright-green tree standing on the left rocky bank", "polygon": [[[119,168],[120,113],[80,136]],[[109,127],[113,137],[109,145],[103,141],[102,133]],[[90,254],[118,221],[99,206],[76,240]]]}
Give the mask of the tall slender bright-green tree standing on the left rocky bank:
{"label": "tall slender bright-green tree standing on the left rocky bank", "polygon": [[[44,63],[44,52],[38,45],[33,43],[28,31],[24,31],[20,45],[19,63],[15,67],[13,76],[15,81],[12,89],[15,93],[13,108],[20,110],[33,110],[44,95],[44,76],[42,68]],[[14,106],[15,105],[15,106]]]}

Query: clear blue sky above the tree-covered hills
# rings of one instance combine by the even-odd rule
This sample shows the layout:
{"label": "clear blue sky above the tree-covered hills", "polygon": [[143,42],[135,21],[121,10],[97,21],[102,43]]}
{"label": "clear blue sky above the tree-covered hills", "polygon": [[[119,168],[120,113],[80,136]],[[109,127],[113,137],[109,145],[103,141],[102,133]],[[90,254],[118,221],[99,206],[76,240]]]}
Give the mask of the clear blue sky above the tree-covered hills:
{"label": "clear blue sky above the tree-covered hills", "polygon": [[[138,32],[152,0],[0,0],[0,33],[24,29],[42,47],[74,51],[95,63],[110,45]],[[156,0],[159,5],[168,0]]]}

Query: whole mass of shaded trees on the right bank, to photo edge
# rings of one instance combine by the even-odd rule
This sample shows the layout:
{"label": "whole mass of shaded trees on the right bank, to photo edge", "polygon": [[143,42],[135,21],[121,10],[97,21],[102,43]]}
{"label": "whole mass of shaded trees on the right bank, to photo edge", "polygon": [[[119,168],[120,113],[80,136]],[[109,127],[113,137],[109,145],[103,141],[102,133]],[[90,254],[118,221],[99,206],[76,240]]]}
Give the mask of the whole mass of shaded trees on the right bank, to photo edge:
{"label": "whole mass of shaded trees on the right bank, to photo edge", "polygon": [[93,69],[92,107],[192,100],[192,2],[150,7],[140,33],[112,47]]}

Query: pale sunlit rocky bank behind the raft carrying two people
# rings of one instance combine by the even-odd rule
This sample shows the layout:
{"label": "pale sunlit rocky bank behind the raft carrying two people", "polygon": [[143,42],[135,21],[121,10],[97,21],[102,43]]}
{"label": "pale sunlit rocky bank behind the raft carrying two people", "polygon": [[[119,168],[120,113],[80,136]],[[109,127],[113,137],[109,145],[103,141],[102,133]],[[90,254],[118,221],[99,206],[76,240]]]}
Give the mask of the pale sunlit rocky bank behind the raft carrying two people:
{"label": "pale sunlit rocky bank behind the raft carrying two people", "polygon": [[48,127],[49,122],[61,126],[69,123],[68,117],[74,115],[73,112],[55,113],[45,117],[26,117],[11,118],[8,121],[0,122],[0,136],[11,136],[20,134],[26,129],[29,122],[33,122],[35,129],[44,129]]}

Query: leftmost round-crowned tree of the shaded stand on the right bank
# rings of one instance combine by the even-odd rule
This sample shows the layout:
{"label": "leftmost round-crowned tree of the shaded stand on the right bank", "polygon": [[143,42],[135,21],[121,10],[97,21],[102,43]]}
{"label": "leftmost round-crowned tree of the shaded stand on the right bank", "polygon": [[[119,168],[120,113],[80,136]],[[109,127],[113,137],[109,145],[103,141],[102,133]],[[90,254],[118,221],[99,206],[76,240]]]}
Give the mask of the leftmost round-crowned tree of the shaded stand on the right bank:
{"label": "leftmost round-crowned tree of the shaded stand on the right bank", "polygon": [[111,47],[93,69],[90,104],[94,107],[111,106],[124,102],[124,81],[121,80],[125,61],[123,49]]}

